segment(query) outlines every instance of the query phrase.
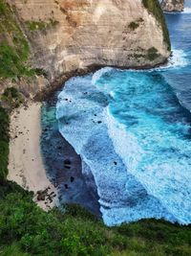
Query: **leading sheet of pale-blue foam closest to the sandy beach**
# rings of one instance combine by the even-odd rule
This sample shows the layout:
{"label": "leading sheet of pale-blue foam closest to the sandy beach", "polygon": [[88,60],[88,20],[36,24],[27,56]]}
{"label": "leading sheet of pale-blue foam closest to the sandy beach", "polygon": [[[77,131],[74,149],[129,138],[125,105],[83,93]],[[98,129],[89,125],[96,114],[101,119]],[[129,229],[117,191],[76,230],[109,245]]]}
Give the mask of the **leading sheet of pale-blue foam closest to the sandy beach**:
{"label": "leading sheet of pale-blue foam closest to the sandy beach", "polygon": [[[83,173],[88,175],[91,171],[94,175],[103,221],[108,225],[144,218],[176,221],[158,198],[149,196],[141,182],[128,173],[108,135],[106,109],[91,98],[83,97],[88,88],[93,94],[98,92],[95,86],[91,89],[86,81],[85,78],[78,78],[67,83],[59,95],[57,118],[60,132],[82,157]],[[72,102],[66,101],[66,98]],[[70,125],[65,124],[65,118],[70,120]],[[97,125],[93,119],[101,120],[102,124]],[[122,129],[119,131],[122,132]],[[138,153],[136,138],[125,133],[119,133],[118,138],[122,139],[122,136],[126,136],[125,141],[129,144],[128,164],[133,169],[138,165],[142,152],[139,149]]]}

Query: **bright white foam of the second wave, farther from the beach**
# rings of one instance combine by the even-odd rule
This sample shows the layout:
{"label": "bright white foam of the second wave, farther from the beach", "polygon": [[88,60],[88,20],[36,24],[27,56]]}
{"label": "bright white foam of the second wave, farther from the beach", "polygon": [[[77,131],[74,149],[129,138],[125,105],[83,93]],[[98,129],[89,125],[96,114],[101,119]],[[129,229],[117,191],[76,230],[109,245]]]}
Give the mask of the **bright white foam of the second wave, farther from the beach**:
{"label": "bright white foam of the second wave, farther from the beach", "polygon": [[[188,181],[191,177],[190,163],[186,159],[184,161],[183,157],[182,159],[179,159],[179,157],[165,158],[165,153],[163,157],[160,154],[158,156],[159,152],[154,151],[158,150],[158,145],[152,149],[152,158],[145,162],[145,155],[148,152],[144,152],[141,148],[142,145],[140,146],[138,143],[138,131],[136,137],[124,125],[119,124],[109,111],[107,111],[106,119],[108,132],[113,140],[115,150],[123,160],[128,173],[134,175],[147,193],[154,198],[158,198],[161,205],[167,209],[165,215],[162,212],[163,218],[172,222],[177,219],[181,224],[189,224],[191,222],[191,203],[189,201],[191,184]],[[153,125],[152,127],[154,128]],[[151,129],[151,132],[147,134],[146,131],[145,135],[154,138],[154,143],[156,143],[155,141],[158,140],[159,136],[159,147],[162,147],[160,136],[164,138],[170,136],[169,131],[163,129],[164,131],[160,132],[158,129],[155,132]],[[150,145],[150,138],[148,139],[146,136],[145,143]],[[155,136],[157,137],[155,138]],[[190,151],[190,145],[184,143],[183,146],[183,141],[178,140],[178,138],[169,137],[164,142],[166,143],[168,140],[171,140],[170,145],[174,145],[174,148],[181,151],[182,155],[186,155]],[[150,148],[152,147],[150,146]],[[173,157],[173,154],[171,157]],[[167,188],[168,192],[166,191]],[[157,209],[153,207],[153,214],[155,215],[156,212]],[[168,213],[171,213],[171,218]]]}

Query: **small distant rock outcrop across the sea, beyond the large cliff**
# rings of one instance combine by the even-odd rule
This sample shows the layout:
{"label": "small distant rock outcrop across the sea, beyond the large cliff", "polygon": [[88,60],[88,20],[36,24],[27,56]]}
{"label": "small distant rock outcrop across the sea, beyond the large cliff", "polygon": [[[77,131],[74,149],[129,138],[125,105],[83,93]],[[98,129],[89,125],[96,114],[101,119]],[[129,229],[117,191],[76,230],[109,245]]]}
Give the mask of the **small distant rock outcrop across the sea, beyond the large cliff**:
{"label": "small distant rock outcrop across the sea, beyond the large cliff", "polygon": [[184,0],[163,0],[161,8],[164,12],[183,12]]}

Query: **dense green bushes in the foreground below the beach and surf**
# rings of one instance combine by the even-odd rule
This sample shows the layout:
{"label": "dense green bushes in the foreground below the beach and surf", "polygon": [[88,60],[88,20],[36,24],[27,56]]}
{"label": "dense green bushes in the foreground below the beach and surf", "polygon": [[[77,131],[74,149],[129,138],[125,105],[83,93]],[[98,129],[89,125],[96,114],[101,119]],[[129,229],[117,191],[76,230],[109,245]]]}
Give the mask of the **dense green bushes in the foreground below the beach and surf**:
{"label": "dense green bushes in the foreground below the beach and surf", "polygon": [[18,185],[0,186],[0,255],[191,255],[191,229],[166,221],[109,228],[77,206],[44,212]]}

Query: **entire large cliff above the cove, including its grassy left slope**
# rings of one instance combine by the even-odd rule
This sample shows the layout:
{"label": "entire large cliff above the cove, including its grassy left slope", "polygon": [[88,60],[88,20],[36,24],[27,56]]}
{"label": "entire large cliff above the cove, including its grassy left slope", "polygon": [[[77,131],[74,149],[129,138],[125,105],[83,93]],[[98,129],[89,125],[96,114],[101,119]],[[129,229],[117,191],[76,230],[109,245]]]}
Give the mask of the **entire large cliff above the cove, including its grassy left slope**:
{"label": "entire large cliff above the cove, including its grassy left slope", "polygon": [[9,66],[0,69],[0,92],[16,85],[35,95],[76,70],[153,67],[170,55],[157,0],[0,0],[0,13]]}

